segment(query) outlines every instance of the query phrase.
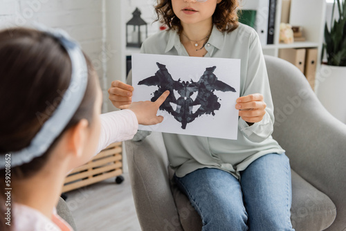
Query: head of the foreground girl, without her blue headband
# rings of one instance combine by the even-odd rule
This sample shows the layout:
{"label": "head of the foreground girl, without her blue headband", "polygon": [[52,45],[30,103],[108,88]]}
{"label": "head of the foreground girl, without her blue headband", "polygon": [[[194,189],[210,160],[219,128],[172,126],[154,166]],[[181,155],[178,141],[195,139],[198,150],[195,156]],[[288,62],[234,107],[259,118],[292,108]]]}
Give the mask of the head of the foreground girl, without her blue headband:
{"label": "head of the foreground girl, without her blue headband", "polygon": [[[89,59],[82,58],[88,66],[84,80],[87,84],[78,109],[44,154],[29,163],[11,166],[12,182],[35,175],[47,163],[64,163],[69,171],[85,163],[95,151],[102,94]],[[28,28],[0,31],[0,158],[29,147],[46,121],[58,111],[63,97],[71,100],[66,90],[72,67],[61,41],[48,33]]]}

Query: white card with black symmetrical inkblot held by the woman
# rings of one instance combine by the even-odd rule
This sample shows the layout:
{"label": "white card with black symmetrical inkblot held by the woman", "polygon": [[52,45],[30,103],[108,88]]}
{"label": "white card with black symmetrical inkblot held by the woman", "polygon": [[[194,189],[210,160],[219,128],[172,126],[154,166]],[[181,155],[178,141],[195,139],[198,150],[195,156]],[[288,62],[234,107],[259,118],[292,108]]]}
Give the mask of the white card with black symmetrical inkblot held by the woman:
{"label": "white card with black symmetrical inkblot held by the woman", "polygon": [[163,122],[140,130],[237,139],[240,59],[134,54],[132,85],[133,102],[170,91]]}

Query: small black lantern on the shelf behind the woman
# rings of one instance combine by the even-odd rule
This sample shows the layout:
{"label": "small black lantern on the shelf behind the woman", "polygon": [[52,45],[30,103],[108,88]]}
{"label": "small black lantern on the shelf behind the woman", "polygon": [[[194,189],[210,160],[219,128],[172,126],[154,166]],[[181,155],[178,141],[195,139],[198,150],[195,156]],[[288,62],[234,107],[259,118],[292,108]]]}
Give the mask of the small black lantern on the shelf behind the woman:
{"label": "small black lantern on the shelf behind the woman", "polygon": [[[143,41],[148,37],[147,23],[140,17],[142,13],[138,8],[132,12],[132,19],[126,24],[126,46],[140,47]],[[133,30],[131,30],[133,27]],[[145,31],[144,30],[145,27]]]}

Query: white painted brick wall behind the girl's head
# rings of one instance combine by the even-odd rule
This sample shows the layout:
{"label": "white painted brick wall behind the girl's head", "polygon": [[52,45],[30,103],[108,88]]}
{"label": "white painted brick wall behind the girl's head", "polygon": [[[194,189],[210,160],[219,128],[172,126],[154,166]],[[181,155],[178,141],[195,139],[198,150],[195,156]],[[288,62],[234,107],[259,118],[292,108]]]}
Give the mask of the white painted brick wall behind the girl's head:
{"label": "white painted brick wall behind the girl's head", "polygon": [[[37,21],[53,28],[63,28],[78,40],[90,57],[108,100],[104,62],[104,1],[102,0],[0,0],[0,28],[28,26]],[[107,111],[104,104],[103,111]]]}

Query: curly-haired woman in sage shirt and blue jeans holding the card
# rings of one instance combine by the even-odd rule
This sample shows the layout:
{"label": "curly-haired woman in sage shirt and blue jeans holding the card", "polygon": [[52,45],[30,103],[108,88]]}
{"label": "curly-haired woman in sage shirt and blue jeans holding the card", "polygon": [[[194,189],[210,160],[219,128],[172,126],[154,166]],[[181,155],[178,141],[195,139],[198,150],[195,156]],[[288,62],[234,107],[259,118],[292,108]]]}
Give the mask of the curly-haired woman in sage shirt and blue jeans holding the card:
{"label": "curly-haired woman in sage shirt and blue jeans holding the card", "polygon": [[[203,230],[293,230],[291,172],[271,137],[274,116],[257,33],[237,21],[237,0],[158,0],[168,30],[149,37],[142,53],[241,59],[237,140],[163,133],[180,190]],[[129,104],[129,85],[113,82],[110,99]]]}

